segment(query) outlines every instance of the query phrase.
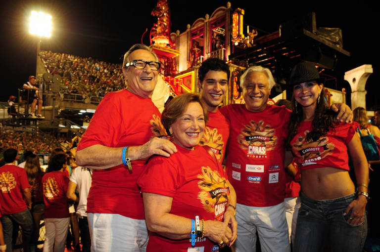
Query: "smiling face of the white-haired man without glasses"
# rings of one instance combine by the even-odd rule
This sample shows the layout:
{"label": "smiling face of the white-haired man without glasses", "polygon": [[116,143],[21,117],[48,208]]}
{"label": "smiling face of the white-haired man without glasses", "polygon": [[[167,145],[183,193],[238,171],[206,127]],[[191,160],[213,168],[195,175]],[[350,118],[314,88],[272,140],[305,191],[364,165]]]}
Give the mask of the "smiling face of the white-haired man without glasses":
{"label": "smiling face of the white-haired man without glasses", "polygon": [[267,107],[271,93],[268,77],[264,72],[249,72],[243,83],[245,107],[251,112],[260,112]]}

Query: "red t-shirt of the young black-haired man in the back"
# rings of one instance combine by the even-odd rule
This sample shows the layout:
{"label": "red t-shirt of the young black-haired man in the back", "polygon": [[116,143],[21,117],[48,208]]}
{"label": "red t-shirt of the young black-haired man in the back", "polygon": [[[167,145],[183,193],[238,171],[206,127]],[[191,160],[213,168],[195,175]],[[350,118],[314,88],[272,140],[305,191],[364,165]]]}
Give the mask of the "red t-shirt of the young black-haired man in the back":
{"label": "red t-shirt of the young black-haired man in the back", "polygon": [[210,146],[218,162],[222,164],[228,137],[230,136],[230,125],[219,110],[217,112],[208,112],[208,115],[210,120],[204,129],[200,145]]}

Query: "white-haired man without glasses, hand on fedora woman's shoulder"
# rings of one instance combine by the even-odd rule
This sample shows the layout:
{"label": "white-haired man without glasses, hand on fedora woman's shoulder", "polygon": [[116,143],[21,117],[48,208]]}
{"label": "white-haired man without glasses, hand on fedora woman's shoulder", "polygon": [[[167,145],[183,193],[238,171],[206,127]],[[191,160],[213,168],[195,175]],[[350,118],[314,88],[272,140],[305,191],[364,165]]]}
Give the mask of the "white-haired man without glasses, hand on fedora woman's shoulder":
{"label": "white-haired man without glasses, hand on fedora woman's shoulder", "polygon": [[[245,104],[220,108],[230,124],[226,170],[238,204],[236,252],[256,251],[256,231],[263,252],[290,252],[285,219],[285,150],[290,110],[267,104],[275,80],[268,68],[253,66],[240,77]],[[352,119],[340,104],[338,118]],[[337,110],[336,108],[334,108]],[[349,110],[349,109],[348,109]]]}

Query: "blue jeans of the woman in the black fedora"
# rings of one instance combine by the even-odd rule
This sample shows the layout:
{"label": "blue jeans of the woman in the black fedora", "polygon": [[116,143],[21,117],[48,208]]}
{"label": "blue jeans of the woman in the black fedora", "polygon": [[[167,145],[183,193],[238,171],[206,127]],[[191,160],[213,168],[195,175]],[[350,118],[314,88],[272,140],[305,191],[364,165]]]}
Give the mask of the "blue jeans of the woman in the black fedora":
{"label": "blue jeans of the woman in the black fedora", "polygon": [[346,221],[351,213],[343,216],[356,197],[350,194],[333,200],[313,200],[302,194],[294,252],[325,251],[329,242],[333,252],[361,252],[367,236],[367,215],[357,226]]}

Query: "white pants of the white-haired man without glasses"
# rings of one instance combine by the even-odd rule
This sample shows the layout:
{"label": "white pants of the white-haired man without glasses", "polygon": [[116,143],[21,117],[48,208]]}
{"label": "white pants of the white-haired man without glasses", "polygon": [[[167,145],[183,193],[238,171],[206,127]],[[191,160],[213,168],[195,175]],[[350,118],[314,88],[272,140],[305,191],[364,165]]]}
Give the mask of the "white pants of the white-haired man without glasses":
{"label": "white pants of the white-haired man without glasses", "polygon": [[237,204],[238,238],[236,252],[256,251],[256,230],[262,252],[290,252],[284,203],[271,207],[248,207]]}

